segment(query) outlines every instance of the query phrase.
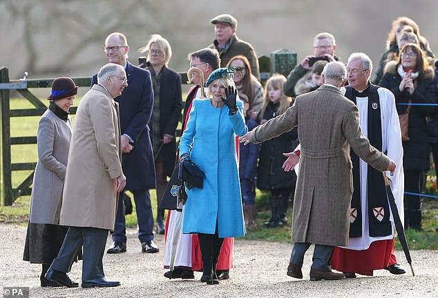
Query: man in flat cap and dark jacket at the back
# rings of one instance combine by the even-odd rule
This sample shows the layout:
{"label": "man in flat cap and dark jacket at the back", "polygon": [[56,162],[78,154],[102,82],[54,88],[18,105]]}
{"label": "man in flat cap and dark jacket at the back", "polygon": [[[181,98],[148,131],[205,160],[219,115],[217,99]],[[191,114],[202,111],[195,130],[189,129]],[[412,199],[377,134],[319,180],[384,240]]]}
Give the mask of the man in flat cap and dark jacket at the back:
{"label": "man in flat cap and dark jacket at the back", "polygon": [[242,41],[236,35],[237,20],[231,14],[219,14],[211,19],[214,24],[214,34],[216,39],[209,48],[216,49],[220,56],[220,67],[227,66],[229,59],[236,55],[243,55],[248,58],[251,63],[251,73],[260,79],[258,70],[258,59],[251,43]]}

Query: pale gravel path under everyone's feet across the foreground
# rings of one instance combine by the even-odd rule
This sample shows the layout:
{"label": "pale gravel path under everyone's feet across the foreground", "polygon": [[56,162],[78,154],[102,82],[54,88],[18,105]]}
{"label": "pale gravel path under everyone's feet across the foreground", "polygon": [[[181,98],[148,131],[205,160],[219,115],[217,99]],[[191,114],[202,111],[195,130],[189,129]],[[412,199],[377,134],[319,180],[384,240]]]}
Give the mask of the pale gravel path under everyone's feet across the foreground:
{"label": "pale gravel path under everyone's feet across the foreground", "polygon": [[[39,264],[22,261],[26,227],[0,224],[0,286],[30,287],[30,297],[438,297],[438,251],[411,252],[415,277],[391,275],[377,270],[374,277],[358,277],[340,281],[310,281],[312,248],[303,266],[304,279],[286,275],[291,244],[236,239],[234,269],[231,279],[217,286],[201,284],[200,272],[195,279],[169,280],[162,269],[164,237],[155,242],[157,254],[140,250],[136,231],[128,229],[128,251],[122,255],[105,255],[104,269],[108,279],[120,280],[115,288],[40,288]],[[108,237],[107,247],[111,245]],[[399,262],[409,265],[403,252],[396,252]],[[82,261],[73,264],[70,278],[81,281]]]}

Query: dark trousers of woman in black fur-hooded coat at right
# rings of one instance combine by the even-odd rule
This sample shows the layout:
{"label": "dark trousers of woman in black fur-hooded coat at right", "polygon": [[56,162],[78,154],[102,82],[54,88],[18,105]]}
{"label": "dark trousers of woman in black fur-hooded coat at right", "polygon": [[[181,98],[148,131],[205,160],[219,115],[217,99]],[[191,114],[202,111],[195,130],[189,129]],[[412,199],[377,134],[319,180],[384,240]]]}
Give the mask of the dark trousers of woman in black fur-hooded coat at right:
{"label": "dark trousers of woman in black fur-hooded coat at right", "polygon": [[[405,170],[405,191],[421,193],[422,172]],[[421,228],[421,197],[419,195],[405,195],[405,228]]]}

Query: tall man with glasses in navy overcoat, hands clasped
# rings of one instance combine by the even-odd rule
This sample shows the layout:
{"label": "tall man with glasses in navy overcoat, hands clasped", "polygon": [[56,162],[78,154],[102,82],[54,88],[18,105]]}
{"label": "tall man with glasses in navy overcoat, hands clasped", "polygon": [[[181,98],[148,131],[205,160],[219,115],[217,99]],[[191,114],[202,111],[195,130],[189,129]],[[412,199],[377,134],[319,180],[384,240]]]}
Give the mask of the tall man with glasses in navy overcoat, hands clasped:
{"label": "tall man with glasses in navy overcoat, hands clasped", "polygon": [[[128,87],[115,101],[120,106],[120,125],[122,132],[122,167],[126,175],[125,190],[134,195],[137,211],[138,239],[142,244],[142,252],[158,252],[153,243],[153,215],[149,189],[155,188],[155,165],[149,126],[153,108],[153,89],[151,73],[126,61],[128,42],[124,34],[114,32],[108,35],[104,47],[106,57],[112,63],[124,66]],[[92,84],[96,82],[93,76]],[[122,198],[124,192],[120,194]],[[123,200],[117,203],[113,246],[107,253],[126,252],[126,224]]]}

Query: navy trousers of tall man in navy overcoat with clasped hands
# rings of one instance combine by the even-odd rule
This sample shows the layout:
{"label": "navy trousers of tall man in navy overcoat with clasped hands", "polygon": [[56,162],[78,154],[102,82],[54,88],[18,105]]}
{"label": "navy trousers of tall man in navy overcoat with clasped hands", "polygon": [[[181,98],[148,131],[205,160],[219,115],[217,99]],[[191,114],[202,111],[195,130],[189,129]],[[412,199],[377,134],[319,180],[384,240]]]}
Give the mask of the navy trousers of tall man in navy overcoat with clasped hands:
{"label": "navy trousers of tall man in navy overcoat with clasped hands", "polygon": [[[137,212],[138,239],[141,243],[153,240],[153,215],[151,206],[151,195],[149,190],[131,190],[134,195],[135,211]],[[120,192],[120,198],[124,191]],[[115,215],[115,229],[113,241],[126,243],[126,221],[123,210],[123,200],[117,203],[117,214]]]}

